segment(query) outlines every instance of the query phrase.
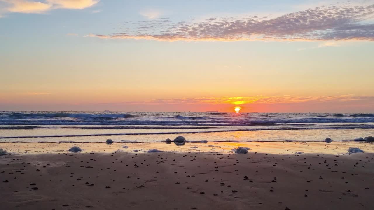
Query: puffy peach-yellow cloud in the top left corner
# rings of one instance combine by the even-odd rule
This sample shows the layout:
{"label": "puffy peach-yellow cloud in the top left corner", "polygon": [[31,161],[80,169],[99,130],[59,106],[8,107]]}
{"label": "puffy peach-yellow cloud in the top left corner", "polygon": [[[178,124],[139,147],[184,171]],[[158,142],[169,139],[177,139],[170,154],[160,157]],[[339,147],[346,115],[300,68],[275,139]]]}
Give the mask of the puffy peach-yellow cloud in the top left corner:
{"label": "puffy peach-yellow cloud in the top left corner", "polygon": [[99,0],[0,0],[6,4],[7,12],[45,13],[53,9],[85,9],[97,4]]}

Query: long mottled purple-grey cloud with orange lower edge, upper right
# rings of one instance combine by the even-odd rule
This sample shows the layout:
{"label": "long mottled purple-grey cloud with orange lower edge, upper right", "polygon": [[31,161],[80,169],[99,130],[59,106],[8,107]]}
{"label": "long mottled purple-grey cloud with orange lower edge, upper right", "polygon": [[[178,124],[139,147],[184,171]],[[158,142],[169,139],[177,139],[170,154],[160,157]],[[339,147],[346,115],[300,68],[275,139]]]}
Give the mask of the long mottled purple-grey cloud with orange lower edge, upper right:
{"label": "long mottled purple-grey cloud with orange lower edge, upper right", "polygon": [[[374,24],[362,24],[373,17],[374,4],[337,5],[315,7],[275,18],[247,16],[209,18],[199,22],[128,22],[138,25],[138,28],[122,33],[89,34],[88,37],[158,41],[374,41]],[[143,15],[157,17],[148,13]]]}

